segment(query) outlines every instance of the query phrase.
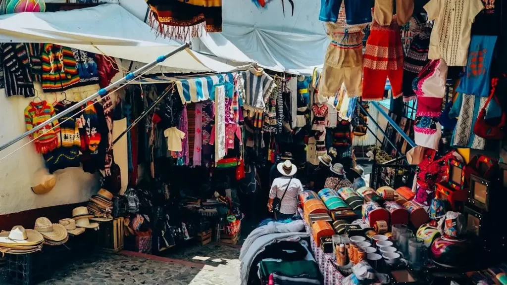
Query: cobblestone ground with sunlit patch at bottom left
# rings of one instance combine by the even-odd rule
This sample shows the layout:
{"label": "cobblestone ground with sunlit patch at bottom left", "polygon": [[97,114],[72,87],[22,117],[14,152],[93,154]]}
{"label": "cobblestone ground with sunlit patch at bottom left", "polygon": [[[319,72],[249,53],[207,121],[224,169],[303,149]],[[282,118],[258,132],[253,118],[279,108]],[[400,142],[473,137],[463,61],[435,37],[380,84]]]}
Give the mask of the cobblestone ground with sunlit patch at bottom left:
{"label": "cobblestone ground with sunlit patch at bottom left", "polygon": [[[239,284],[239,248],[219,244],[190,246],[169,254],[167,262],[122,254],[96,253],[57,270],[43,285]],[[0,278],[0,283],[2,282]]]}

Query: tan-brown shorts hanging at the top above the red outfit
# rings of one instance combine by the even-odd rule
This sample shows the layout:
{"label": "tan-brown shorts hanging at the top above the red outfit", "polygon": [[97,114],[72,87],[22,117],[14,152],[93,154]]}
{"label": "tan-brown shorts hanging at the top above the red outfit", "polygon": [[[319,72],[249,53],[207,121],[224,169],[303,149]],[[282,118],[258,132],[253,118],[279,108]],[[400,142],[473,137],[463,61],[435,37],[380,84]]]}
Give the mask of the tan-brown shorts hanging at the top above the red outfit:
{"label": "tan-brown shorts hanging at the top above the red outfit", "polygon": [[[373,16],[381,26],[388,26],[392,21],[394,0],[375,0]],[[405,25],[414,13],[414,0],[396,0],[396,21],[400,26]]]}

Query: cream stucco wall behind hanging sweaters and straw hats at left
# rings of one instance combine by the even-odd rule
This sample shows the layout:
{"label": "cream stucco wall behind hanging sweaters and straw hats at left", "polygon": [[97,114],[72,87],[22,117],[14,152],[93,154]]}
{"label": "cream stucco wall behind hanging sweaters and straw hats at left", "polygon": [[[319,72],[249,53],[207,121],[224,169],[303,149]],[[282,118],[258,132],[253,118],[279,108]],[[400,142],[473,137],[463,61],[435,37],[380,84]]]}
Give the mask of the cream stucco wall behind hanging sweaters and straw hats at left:
{"label": "cream stucco wall behind hanging sweaters and straw hats at left", "polygon": [[[48,102],[55,101],[54,93],[42,92],[40,84],[37,83],[35,83],[35,88],[38,89],[42,99]],[[96,92],[98,88],[98,85],[90,85],[72,88],[65,93],[68,100],[79,101]],[[64,97],[60,92],[57,96],[58,100]],[[116,98],[116,93],[113,96]],[[23,111],[31,100],[32,98],[24,98],[23,96],[7,97],[4,89],[0,89],[0,145],[26,131]],[[28,141],[28,138],[24,138],[0,152],[0,159]],[[30,189],[32,176],[42,167],[45,167],[43,157],[35,152],[33,144],[28,144],[0,161],[0,215],[84,202],[99,188],[97,173],[85,173],[81,167],[71,167],[54,173],[57,182],[49,193],[34,194]]]}

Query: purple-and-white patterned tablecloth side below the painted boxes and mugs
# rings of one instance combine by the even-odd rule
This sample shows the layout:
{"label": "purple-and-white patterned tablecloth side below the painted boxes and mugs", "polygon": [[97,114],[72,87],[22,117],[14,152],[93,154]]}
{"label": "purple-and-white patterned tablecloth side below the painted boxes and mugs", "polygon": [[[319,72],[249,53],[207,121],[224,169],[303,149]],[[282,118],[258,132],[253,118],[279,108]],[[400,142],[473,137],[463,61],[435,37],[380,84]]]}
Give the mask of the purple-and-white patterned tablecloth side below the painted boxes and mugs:
{"label": "purple-and-white patterned tablecloth side below the painted boxes and mugs", "polygon": [[[303,210],[298,208],[298,211],[299,215],[301,217],[304,217]],[[336,256],[332,253],[325,254],[320,246],[317,246],[317,243],[313,239],[310,225],[308,225],[305,219],[303,219],[303,223],[305,224],[306,232],[310,234],[310,245],[312,247],[312,252],[318,264],[320,273],[322,274],[324,285],[340,284],[341,280],[345,277],[336,269],[334,265],[334,263],[336,263]]]}

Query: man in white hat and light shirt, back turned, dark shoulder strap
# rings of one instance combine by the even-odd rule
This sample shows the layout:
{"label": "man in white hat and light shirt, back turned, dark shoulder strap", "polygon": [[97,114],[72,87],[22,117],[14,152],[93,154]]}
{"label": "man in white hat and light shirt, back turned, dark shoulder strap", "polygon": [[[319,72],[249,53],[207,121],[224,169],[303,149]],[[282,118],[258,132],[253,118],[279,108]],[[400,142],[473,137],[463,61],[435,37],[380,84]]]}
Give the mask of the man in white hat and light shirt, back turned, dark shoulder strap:
{"label": "man in white hat and light shirt, back turned, dark shoulder strap", "polygon": [[301,185],[299,179],[294,177],[298,168],[290,160],[278,163],[276,169],[282,176],[276,178],[273,184],[271,184],[268,210],[270,212],[275,211],[273,209],[274,199],[280,199],[280,210],[275,212],[275,218],[283,220],[291,218],[296,214],[298,210],[298,195],[303,191],[303,185]]}

